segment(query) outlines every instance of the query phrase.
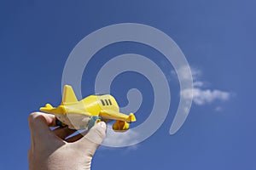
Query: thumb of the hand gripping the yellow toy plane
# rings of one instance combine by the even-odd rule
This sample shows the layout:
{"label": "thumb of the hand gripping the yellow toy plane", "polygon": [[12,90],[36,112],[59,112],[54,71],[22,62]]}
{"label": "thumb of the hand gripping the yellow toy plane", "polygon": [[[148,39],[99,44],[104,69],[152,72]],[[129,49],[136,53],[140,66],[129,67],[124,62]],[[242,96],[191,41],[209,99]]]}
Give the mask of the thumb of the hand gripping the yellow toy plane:
{"label": "thumb of the hand gripping the yellow toy plane", "polygon": [[105,122],[96,123],[82,139],[79,139],[79,150],[88,150],[90,155],[93,156],[96,149],[102,144],[103,139],[105,139],[106,130],[107,125]]}

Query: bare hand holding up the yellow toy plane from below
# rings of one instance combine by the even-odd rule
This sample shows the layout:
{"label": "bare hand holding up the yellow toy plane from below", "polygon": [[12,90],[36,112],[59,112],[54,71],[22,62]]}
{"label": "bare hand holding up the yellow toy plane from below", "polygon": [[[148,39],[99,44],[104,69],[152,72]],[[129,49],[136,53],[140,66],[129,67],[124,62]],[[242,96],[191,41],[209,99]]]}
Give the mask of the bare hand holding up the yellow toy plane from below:
{"label": "bare hand holding up the yellow toy plane from below", "polygon": [[[87,133],[77,134],[67,127],[56,127],[55,116],[34,112],[28,117],[31,146],[28,150],[30,170],[90,169],[92,156],[106,136],[106,123],[99,122]],[[50,130],[49,127],[56,127]]]}

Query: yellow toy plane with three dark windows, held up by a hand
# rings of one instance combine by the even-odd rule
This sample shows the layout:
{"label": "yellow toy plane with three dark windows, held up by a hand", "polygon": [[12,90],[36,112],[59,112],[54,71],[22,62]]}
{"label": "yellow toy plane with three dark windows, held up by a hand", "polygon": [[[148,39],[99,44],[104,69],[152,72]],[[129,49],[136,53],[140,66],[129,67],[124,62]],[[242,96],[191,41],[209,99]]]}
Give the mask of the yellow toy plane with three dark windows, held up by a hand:
{"label": "yellow toy plane with three dark windows, held up by a hand", "polygon": [[53,107],[46,104],[40,111],[55,115],[57,125],[67,125],[77,130],[93,127],[96,122],[116,120],[113,123],[113,130],[125,131],[129,129],[130,122],[136,121],[132,113],[128,116],[119,112],[119,105],[113,96],[95,94],[79,101],[73,88],[68,85],[64,86],[61,105]]}

